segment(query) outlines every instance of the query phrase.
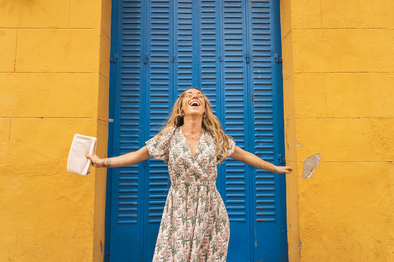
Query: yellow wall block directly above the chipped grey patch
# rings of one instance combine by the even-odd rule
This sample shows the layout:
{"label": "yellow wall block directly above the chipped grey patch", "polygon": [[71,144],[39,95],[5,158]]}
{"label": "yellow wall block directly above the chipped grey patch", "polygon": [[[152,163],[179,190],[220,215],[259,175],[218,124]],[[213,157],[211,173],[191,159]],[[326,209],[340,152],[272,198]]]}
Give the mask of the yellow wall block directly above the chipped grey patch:
{"label": "yellow wall block directly above the chipped grey patch", "polygon": [[297,162],[316,153],[321,161],[394,159],[394,118],[297,118]]}

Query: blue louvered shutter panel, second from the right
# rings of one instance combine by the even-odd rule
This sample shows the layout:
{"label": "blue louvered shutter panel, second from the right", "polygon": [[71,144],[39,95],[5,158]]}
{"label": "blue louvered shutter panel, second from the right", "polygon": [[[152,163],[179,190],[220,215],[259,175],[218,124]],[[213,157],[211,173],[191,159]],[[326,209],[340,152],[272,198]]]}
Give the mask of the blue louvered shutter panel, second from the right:
{"label": "blue louvered shutter panel, second from the right", "polygon": [[[221,8],[222,92],[225,133],[236,145],[249,150],[247,112],[247,84],[245,61],[245,2],[223,0]],[[230,242],[227,260],[250,260],[250,200],[249,166],[235,159],[227,159],[224,169],[224,191],[230,218]]]}

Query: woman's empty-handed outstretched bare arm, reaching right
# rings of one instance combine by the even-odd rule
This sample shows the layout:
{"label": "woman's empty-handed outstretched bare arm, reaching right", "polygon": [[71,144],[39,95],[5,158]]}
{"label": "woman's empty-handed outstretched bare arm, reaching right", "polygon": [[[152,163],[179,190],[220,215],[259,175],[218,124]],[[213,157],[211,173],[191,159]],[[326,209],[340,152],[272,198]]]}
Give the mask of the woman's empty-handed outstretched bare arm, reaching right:
{"label": "woman's empty-handed outstretched bare arm, reaching right", "polygon": [[[268,170],[273,173],[279,173],[279,174],[288,173],[288,174],[290,174],[290,172],[293,171],[293,169],[291,167],[276,166],[271,163],[268,163],[268,162],[264,161],[263,159],[259,158],[258,156],[256,156],[255,154],[252,154],[251,152],[247,152],[237,146],[235,146],[234,152],[229,157],[234,158],[239,161],[242,161],[243,163],[246,163],[246,164],[256,167],[258,169]],[[265,166],[264,166],[264,162],[265,162]]]}

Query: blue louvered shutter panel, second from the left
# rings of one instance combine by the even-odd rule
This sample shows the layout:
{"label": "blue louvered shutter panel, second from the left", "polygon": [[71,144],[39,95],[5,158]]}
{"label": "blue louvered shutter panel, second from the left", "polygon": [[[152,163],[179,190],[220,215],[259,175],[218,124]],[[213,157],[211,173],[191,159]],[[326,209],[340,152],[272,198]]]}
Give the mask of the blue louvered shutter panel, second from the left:
{"label": "blue louvered shutter panel, second from the left", "polygon": [[[161,130],[172,107],[173,5],[169,0],[151,0],[147,8],[149,24],[145,90],[148,110],[145,125],[148,127],[146,138],[149,139]],[[144,259],[149,261],[153,257],[168,194],[168,166],[161,160],[151,158],[147,161],[145,176],[147,181],[142,189],[145,191]]]}

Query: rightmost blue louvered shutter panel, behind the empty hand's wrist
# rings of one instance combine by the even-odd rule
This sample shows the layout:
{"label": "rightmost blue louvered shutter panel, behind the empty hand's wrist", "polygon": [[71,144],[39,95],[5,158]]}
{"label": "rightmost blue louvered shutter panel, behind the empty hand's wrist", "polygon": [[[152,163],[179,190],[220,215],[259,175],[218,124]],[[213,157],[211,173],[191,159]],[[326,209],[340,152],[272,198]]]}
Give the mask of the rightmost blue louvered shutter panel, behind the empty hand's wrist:
{"label": "rightmost blue louvered shutter panel, behind the empty hand's wrist", "polygon": [[[275,31],[274,7],[271,1],[254,0],[247,5],[249,16],[249,82],[253,97],[251,130],[253,152],[274,165],[279,152],[279,121],[282,116],[277,106],[277,68],[274,59]],[[281,87],[281,86],[280,86]],[[280,101],[280,99],[279,99]],[[253,183],[253,254],[255,259],[281,259],[281,184],[280,176],[265,170],[252,169]],[[283,211],[286,212],[286,211]],[[284,234],[286,234],[284,229]]]}

